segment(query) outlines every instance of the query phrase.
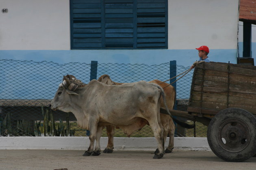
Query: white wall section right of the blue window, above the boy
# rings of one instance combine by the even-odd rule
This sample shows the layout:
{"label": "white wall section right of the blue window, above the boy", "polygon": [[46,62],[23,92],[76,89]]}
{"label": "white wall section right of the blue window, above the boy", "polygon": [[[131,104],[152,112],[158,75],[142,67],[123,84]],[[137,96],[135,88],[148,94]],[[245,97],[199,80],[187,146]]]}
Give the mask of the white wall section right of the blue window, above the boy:
{"label": "white wall section right of the blue window, above the boy", "polygon": [[239,0],[169,0],[169,49],[236,49]]}

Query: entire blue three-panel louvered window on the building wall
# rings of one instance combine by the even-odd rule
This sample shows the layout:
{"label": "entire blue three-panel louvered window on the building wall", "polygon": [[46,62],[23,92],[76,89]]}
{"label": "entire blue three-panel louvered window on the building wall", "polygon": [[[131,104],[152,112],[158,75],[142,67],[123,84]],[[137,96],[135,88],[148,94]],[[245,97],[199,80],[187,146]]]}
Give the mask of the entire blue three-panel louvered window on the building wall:
{"label": "entire blue three-panel louvered window on the building wall", "polygon": [[71,49],[166,49],[168,0],[70,0]]}

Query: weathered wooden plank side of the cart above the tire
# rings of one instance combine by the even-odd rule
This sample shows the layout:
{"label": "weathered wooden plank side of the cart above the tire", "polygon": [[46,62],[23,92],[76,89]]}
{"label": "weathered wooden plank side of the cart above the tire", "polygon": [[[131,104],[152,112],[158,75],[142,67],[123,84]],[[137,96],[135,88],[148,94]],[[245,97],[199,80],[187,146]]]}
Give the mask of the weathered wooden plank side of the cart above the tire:
{"label": "weathered wooden plank side of the cart above the tire", "polygon": [[188,112],[213,117],[226,108],[256,115],[256,66],[202,62],[193,73]]}

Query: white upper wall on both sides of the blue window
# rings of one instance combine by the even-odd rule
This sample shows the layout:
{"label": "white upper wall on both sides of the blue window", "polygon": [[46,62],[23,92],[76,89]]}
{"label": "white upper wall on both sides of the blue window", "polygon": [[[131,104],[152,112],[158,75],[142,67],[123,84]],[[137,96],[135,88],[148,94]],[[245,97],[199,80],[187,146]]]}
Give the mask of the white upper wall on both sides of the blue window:
{"label": "white upper wall on both sides of the blue window", "polygon": [[[168,48],[236,49],[239,0],[169,0]],[[69,0],[0,0],[0,50],[69,50]]]}

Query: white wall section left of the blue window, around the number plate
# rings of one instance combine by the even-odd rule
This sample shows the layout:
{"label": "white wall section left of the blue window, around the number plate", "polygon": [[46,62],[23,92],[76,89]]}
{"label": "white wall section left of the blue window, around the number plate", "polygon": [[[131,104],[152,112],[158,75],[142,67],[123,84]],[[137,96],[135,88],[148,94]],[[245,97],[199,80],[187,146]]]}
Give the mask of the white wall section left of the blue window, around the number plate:
{"label": "white wall section left of the blue window, around the number plate", "polygon": [[69,0],[0,0],[0,50],[70,49]]}

